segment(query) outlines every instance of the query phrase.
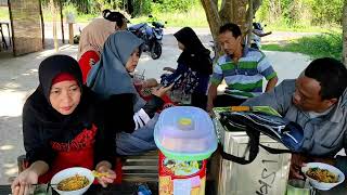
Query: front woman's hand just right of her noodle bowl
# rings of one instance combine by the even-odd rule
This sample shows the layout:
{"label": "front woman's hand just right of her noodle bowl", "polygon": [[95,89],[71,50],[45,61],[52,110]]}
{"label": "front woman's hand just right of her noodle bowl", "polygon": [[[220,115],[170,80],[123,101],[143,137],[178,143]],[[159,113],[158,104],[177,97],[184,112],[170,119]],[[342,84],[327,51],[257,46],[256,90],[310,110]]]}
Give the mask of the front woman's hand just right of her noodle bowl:
{"label": "front woman's hand just right of her noodle bowl", "polygon": [[114,180],[117,178],[115,171],[113,171],[112,166],[108,161],[100,161],[95,170],[100,173],[106,173],[106,176],[98,178],[98,182],[103,186],[106,187],[110,183],[113,183]]}

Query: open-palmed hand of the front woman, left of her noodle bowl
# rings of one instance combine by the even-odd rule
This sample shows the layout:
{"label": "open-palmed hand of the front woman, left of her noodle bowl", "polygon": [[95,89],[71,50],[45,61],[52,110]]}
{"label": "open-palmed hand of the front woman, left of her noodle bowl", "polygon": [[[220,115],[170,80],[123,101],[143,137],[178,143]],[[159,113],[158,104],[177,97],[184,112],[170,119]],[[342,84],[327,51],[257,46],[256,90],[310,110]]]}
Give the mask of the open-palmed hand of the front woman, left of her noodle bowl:
{"label": "open-palmed hand of the front woman, left of her noodle bowl", "polygon": [[27,195],[29,194],[29,187],[31,184],[37,184],[38,173],[28,168],[21,172],[18,177],[12,182],[11,190],[13,195]]}

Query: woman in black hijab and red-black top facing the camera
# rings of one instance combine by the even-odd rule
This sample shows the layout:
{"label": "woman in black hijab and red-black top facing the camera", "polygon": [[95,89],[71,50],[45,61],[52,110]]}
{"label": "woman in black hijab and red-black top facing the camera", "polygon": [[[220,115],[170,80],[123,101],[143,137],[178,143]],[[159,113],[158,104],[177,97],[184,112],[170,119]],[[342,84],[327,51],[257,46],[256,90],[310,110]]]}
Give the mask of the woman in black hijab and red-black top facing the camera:
{"label": "woman in black hijab and red-black top facing the camera", "polygon": [[26,194],[30,184],[47,183],[60,170],[76,166],[107,172],[98,179],[103,186],[114,182],[116,158],[110,150],[114,141],[95,100],[95,94],[82,86],[76,60],[53,55],[42,61],[39,87],[23,108],[29,167],[13,181],[13,194]]}

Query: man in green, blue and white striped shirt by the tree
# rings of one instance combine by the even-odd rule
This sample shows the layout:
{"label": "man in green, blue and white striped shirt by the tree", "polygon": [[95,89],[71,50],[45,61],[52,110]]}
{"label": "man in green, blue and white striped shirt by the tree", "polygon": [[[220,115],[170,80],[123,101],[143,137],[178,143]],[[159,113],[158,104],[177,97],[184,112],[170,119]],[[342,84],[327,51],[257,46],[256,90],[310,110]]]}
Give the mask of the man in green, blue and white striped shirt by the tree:
{"label": "man in green, blue and white striped shirt by the tree", "polygon": [[[274,88],[277,73],[261,51],[242,46],[237,25],[228,23],[221,26],[218,40],[226,54],[218,58],[214,67],[207,112],[215,106],[240,105],[248,98],[261,94],[264,77],[268,80],[266,91]],[[224,94],[217,95],[217,88],[223,79],[228,87]]]}

